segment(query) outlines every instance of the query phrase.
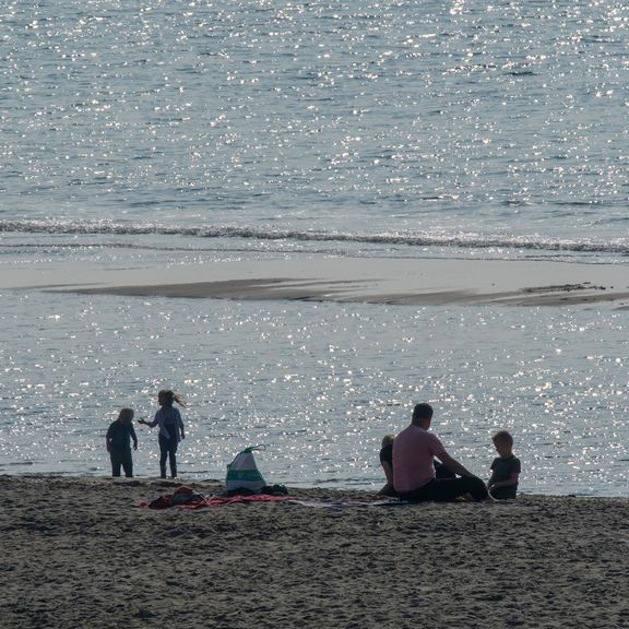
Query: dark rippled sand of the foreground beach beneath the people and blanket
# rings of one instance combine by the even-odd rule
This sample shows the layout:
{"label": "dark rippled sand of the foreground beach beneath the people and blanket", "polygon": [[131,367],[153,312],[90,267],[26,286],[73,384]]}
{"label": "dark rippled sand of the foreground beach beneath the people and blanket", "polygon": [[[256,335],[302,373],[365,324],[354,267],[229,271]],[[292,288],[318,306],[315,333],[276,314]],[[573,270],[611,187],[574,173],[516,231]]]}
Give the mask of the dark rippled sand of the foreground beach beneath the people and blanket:
{"label": "dark rippled sand of the foreground beach beneath the people and blanket", "polygon": [[0,477],[1,626],[629,627],[626,499],[139,508],[175,486]]}

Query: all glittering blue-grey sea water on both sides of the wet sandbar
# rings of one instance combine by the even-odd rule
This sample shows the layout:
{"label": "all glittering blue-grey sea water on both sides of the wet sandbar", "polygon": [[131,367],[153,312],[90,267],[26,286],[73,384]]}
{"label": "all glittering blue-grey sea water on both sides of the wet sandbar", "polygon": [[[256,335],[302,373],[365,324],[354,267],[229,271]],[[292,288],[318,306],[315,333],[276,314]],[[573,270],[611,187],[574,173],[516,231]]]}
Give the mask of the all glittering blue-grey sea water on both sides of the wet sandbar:
{"label": "all glittering blue-grey sea water on both sides of the wet sandbar", "polygon": [[[129,5],[131,4],[131,5]],[[330,254],[626,264],[624,2],[0,3],[0,273]],[[627,310],[1,295],[0,472],[382,483],[412,405],[479,475],[629,495]],[[157,470],[139,427],[139,475]]]}

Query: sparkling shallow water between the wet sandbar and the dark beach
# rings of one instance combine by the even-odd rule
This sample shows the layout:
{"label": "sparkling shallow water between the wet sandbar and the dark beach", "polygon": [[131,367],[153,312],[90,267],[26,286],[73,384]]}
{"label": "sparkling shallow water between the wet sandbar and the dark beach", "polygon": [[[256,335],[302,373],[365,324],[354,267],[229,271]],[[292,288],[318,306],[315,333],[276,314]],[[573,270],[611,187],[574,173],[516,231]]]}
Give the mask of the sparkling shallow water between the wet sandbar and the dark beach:
{"label": "sparkling shallow water between the wet sandbar and the dark beach", "polygon": [[[508,428],[523,490],[627,495],[622,311],[34,293],[14,296],[2,328],[22,336],[4,355],[4,473],[107,474],[117,411],[150,417],[174,387],[189,403],[186,478],[222,478],[264,444],[269,480],[373,488],[381,437],[429,400],[434,430],[480,475]],[[156,435],[138,431],[137,473],[154,475]]]}

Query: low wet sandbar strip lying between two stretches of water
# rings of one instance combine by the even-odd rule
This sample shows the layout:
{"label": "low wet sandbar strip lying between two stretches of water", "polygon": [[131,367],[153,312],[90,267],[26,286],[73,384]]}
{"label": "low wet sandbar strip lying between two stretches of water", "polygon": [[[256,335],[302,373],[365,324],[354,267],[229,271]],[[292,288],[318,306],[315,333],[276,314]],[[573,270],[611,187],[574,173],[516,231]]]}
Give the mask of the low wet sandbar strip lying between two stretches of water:
{"label": "low wet sandbar strip lying between two stretches of water", "polygon": [[628,307],[620,264],[545,261],[286,257],[168,268],[12,269],[0,288],[224,299],[301,299],[373,304]]}

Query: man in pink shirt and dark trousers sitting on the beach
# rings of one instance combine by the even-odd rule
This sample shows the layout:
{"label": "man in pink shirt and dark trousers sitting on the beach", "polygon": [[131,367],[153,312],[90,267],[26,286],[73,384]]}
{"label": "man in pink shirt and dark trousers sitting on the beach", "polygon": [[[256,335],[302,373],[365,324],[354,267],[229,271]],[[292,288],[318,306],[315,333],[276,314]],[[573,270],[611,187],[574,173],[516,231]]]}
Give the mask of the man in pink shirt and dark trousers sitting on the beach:
{"label": "man in pink shirt and dark trousers sitting on the beach", "polygon": [[[439,438],[428,432],[431,420],[430,404],[417,404],[411,425],[393,441],[393,486],[397,496],[413,502],[448,502],[464,495],[486,500],[489,492],[485,483],[452,459]],[[438,478],[435,456],[460,477]]]}

